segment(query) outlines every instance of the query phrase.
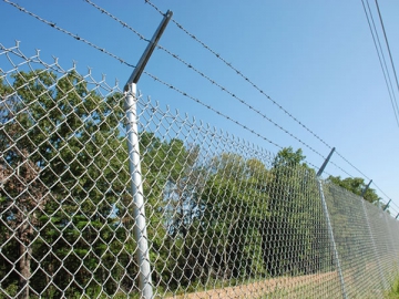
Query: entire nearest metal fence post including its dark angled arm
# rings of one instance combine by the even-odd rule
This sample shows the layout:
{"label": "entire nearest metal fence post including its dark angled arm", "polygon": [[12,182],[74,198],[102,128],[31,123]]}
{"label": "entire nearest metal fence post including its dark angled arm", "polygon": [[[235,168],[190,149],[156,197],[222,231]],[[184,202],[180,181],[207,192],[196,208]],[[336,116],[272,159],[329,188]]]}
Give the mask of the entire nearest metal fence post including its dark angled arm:
{"label": "entire nearest metal fence post including its dark angled arm", "polygon": [[133,217],[134,217],[134,239],[137,244],[137,264],[139,264],[139,288],[144,299],[153,298],[153,288],[151,281],[151,265],[149,252],[149,237],[146,231],[146,219],[144,208],[144,193],[141,172],[141,159],[139,148],[139,128],[137,128],[137,99],[136,83],[144,71],[146,63],[153,53],[156,43],[161,39],[168,21],[173,16],[167,11],[156,29],[153,38],[149,42],[144,53],[134,68],[127,83],[124,87],[125,112],[127,118],[127,150],[129,150],[129,169],[131,174],[131,188],[133,196]]}

